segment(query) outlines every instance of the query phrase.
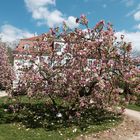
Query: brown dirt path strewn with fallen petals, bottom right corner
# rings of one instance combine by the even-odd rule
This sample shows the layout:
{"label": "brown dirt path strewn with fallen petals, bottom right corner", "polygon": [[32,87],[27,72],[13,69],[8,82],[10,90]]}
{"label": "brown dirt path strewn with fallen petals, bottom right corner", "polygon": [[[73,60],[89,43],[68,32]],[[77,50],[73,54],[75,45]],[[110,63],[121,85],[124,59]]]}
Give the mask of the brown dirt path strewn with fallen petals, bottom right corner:
{"label": "brown dirt path strewn with fallen petals, bottom right corner", "polygon": [[80,136],[78,140],[140,140],[140,121],[125,116],[124,121],[117,127],[97,134]]}

